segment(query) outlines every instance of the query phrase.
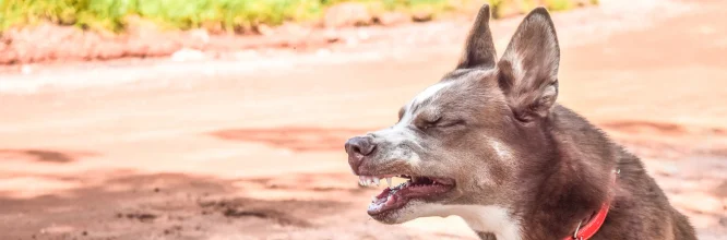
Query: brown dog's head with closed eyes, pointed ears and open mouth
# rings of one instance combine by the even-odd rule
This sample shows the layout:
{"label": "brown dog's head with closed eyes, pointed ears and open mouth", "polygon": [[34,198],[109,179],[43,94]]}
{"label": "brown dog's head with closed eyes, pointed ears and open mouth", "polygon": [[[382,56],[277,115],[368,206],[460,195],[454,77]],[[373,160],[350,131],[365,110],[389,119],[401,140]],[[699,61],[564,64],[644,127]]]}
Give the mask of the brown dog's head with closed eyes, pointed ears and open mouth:
{"label": "brown dog's head with closed eyes, pointed ears and open mouth", "polygon": [[398,111],[394,125],[346,142],[364,184],[409,181],[377,195],[368,213],[386,224],[448,215],[448,205],[509,206],[527,161],[547,154],[560,51],[544,8],[521,23],[501,59],[477,15],[457,67]]}

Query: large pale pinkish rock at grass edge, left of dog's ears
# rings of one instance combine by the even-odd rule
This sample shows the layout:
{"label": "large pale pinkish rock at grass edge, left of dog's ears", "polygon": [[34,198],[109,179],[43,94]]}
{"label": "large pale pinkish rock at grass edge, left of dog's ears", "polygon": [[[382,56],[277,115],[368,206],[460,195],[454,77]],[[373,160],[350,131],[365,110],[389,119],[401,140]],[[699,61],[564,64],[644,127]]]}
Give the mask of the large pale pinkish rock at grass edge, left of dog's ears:
{"label": "large pale pinkish rock at grass edge, left of dog's ears", "polygon": [[360,2],[344,2],[329,8],[323,17],[325,27],[359,26],[371,24],[368,7]]}

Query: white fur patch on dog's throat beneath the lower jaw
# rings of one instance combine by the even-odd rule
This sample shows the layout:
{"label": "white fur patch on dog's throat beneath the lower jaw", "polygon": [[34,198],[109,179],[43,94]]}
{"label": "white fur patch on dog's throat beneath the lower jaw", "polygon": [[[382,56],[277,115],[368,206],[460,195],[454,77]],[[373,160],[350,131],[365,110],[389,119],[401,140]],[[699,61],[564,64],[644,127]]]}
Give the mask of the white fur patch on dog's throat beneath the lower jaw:
{"label": "white fur patch on dog's throat beneath the lower jaw", "polygon": [[[412,204],[412,203],[409,203]],[[498,240],[520,240],[521,227],[516,219],[510,217],[510,212],[500,206],[488,205],[442,205],[442,204],[415,204],[410,206],[406,218],[418,217],[448,217],[455,215],[462,217],[469,228],[480,232],[492,232]]]}

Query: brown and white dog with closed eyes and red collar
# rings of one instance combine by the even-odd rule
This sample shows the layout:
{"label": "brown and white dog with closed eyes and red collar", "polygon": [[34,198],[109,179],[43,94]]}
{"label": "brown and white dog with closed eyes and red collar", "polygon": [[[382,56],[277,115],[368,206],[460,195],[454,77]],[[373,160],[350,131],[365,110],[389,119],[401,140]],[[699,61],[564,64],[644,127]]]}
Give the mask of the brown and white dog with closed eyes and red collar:
{"label": "brown and white dog with closed eyes and red collar", "polygon": [[[481,239],[696,239],[641,160],[556,103],[560,47],[545,8],[498,60],[479,10],[456,68],[345,151],[383,224],[462,217]],[[391,183],[390,183],[391,184]]]}

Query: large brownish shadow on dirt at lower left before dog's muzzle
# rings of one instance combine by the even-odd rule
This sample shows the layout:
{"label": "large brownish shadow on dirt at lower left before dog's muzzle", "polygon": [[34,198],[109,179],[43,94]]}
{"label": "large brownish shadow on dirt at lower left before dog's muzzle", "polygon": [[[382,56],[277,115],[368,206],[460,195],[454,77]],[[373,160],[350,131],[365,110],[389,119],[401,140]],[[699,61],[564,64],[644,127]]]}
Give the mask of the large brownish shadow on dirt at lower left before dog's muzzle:
{"label": "large brownish shadow on dirt at lower left before dog's muzzle", "polygon": [[[223,180],[130,170],[90,172],[65,178],[87,182],[72,190],[25,199],[0,192],[0,232],[3,239],[245,239],[315,228],[317,218],[335,215],[350,203],[341,197],[255,196],[265,189],[315,192],[315,182],[341,178],[318,176]],[[321,193],[360,192],[357,188],[329,191],[335,192]]]}

